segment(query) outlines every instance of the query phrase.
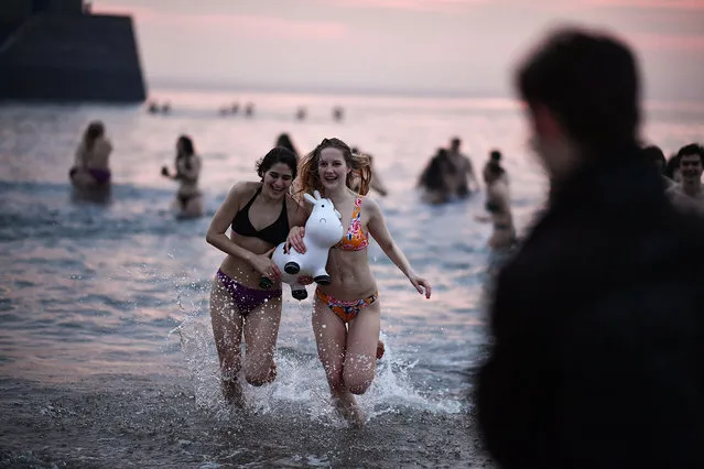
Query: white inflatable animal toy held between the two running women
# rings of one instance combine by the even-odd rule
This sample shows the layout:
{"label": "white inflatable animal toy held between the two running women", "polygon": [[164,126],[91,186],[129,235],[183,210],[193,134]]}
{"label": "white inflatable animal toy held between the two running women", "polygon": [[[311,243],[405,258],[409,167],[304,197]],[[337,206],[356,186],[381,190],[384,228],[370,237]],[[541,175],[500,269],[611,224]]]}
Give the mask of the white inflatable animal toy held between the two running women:
{"label": "white inflatable animal toy held between the two running women", "polygon": [[[303,197],[313,204],[313,211],[305,222],[303,243],[305,253],[300,253],[291,248],[284,252],[285,242],[280,243],[273,252],[271,260],[281,270],[282,281],[291,285],[291,296],[296,299],[305,299],[308,293],[304,285],[299,283],[299,276],[306,275],[319,285],[329,285],[332,279],[325,270],[327,254],[331,248],[343,238],[344,230],[342,215],[335,209],[329,198],[322,198],[315,190],[304,194]],[[261,287],[271,286],[271,281],[262,277]]]}

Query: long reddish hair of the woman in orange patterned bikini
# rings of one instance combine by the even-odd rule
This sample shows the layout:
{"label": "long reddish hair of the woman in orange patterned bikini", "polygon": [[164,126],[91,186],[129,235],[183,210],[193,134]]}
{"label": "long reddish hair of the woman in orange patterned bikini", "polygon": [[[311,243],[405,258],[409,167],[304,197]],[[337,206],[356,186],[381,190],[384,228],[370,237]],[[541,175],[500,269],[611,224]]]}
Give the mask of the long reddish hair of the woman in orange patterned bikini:
{"label": "long reddish hair of the woman in orange patterned bikini", "polygon": [[321,161],[321,152],[325,149],[337,149],[343,153],[347,167],[351,171],[347,174],[345,184],[347,187],[353,186],[356,177],[359,177],[359,194],[366,195],[369,192],[369,183],[371,181],[371,163],[368,155],[364,153],[353,153],[349,145],[339,139],[323,139],[323,141],[301,161],[301,188],[300,193],[313,193],[318,190],[323,193],[324,187],[318,173]]}

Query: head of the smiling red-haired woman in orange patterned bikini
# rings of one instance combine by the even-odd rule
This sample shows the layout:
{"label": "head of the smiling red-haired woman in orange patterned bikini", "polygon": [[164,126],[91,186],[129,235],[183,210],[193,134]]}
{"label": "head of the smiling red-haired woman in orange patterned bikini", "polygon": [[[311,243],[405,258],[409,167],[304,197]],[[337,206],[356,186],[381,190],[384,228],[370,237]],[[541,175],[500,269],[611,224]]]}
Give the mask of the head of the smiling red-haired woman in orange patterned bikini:
{"label": "head of the smiling red-haired woman in orange patterned bikini", "polygon": [[359,185],[359,193],[369,192],[371,166],[369,156],[353,153],[353,149],[339,139],[323,141],[301,163],[302,190],[333,192],[340,186]]}

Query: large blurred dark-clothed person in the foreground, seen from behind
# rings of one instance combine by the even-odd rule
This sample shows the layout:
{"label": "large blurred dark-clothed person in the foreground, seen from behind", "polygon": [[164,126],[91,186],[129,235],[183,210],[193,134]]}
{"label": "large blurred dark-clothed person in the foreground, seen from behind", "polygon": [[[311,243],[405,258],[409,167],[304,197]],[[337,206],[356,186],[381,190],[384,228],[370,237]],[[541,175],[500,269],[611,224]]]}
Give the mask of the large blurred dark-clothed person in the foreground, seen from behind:
{"label": "large blurred dark-clothed person in the foreground, seen from behind", "polygon": [[551,187],[492,288],[486,447],[505,469],[702,468],[704,227],[636,142],[636,59],[563,30],[517,87]]}

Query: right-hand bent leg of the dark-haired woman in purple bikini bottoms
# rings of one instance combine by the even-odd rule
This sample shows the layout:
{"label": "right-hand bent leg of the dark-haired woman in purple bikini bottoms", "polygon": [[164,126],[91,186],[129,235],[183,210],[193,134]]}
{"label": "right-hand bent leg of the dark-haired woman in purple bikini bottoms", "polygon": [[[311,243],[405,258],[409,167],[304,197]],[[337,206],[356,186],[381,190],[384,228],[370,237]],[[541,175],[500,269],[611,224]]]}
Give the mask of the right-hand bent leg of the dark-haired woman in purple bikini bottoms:
{"label": "right-hand bent leg of the dark-haired woman in purple bikini bottoms", "polygon": [[245,319],[245,378],[261,386],[277,378],[274,351],[281,323],[281,296],[257,307]]}

